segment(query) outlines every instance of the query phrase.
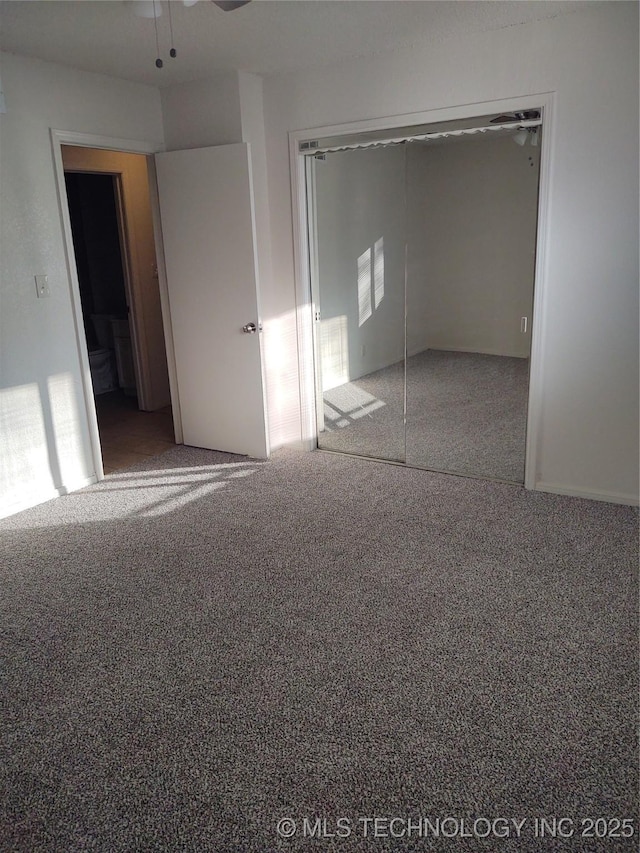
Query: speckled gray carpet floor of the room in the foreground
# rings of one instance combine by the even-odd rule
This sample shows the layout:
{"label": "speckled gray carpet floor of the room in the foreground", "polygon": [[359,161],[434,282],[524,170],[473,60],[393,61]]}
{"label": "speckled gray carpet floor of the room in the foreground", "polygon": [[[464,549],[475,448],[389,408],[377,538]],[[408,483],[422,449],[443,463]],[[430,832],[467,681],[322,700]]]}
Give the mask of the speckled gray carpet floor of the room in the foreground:
{"label": "speckled gray carpet floor of the room in the foreground", "polygon": [[[0,849],[636,850],[637,535],[629,507],[185,447],[6,519]],[[483,837],[501,818],[519,838]]]}

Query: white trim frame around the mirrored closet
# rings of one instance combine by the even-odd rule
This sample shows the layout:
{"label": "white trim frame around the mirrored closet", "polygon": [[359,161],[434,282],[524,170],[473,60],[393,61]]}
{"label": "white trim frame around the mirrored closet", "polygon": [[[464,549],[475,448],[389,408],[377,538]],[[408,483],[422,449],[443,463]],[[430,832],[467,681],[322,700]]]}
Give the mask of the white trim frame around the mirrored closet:
{"label": "white trim frame around the mirrored closet", "polygon": [[527,437],[525,446],[524,487],[536,489],[539,482],[539,445],[542,422],[544,341],[546,332],[548,281],[549,197],[552,181],[553,147],[555,140],[555,93],[542,92],[493,101],[482,101],[443,109],[405,115],[386,116],[365,121],[294,130],[289,133],[289,164],[291,172],[291,203],[293,213],[294,276],[296,317],[298,327],[298,370],[300,382],[300,427],[302,444],[307,450],[317,446],[317,398],[314,370],[314,318],[317,306],[311,291],[312,259],[309,241],[309,199],[306,191],[306,165],[309,155],[300,152],[300,144],[322,137],[340,137],[362,132],[390,131],[397,127],[435,124],[445,121],[473,119],[492,113],[514,110],[541,109],[542,140],[538,189],[538,222],[536,230],[536,263],[531,326],[529,364],[529,396],[527,407]]}

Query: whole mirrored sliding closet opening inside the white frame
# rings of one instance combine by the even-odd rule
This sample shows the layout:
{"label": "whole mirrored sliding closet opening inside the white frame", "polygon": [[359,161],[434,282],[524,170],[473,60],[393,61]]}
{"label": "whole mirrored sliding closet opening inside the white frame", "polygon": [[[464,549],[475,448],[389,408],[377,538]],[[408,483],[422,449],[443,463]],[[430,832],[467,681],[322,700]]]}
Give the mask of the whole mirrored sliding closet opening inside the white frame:
{"label": "whole mirrored sliding closet opening inside the white frame", "polygon": [[525,482],[540,116],[307,145],[318,448]]}

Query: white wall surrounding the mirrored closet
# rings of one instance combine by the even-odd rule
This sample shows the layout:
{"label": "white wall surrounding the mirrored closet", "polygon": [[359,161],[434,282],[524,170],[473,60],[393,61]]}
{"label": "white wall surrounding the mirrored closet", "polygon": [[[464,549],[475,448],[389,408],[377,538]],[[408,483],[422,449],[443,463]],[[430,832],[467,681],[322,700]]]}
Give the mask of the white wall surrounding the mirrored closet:
{"label": "white wall surrounding the mirrored closet", "polygon": [[[291,332],[289,130],[555,92],[535,477],[549,490],[632,501],[638,488],[638,8],[576,7],[518,28],[268,78],[273,287],[263,305]],[[283,341],[294,364],[296,339]],[[286,421],[273,425],[283,443],[306,438],[295,405],[291,394]]]}

